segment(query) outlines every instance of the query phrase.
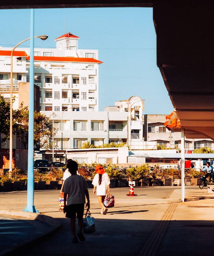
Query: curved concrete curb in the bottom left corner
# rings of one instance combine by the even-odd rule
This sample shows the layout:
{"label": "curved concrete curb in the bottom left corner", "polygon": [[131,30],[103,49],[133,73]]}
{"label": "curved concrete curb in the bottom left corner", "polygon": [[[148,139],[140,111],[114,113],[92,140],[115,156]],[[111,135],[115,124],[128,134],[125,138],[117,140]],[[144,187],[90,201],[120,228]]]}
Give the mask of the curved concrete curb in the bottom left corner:
{"label": "curved concrete curb in the bottom left corner", "polygon": [[42,232],[41,234],[35,234],[31,238],[26,238],[24,242],[21,242],[15,246],[13,246],[12,248],[8,248],[4,251],[1,251],[0,256],[10,255],[10,253],[12,253],[14,250],[20,249],[21,247],[26,246],[26,245],[40,239],[41,237],[44,237],[44,236],[54,232],[61,226],[61,222],[59,220],[49,217],[47,215],[39,214],[39,213],[15,211],[15,210],[0,210],[0,215],[7,215],[7,216],[9,215],[11,217],[23,217],[27,220],[38,220],[38,221],[42,221],[42,222],[45,222],[48,225],[50,225],[50,228],[48,230]]}

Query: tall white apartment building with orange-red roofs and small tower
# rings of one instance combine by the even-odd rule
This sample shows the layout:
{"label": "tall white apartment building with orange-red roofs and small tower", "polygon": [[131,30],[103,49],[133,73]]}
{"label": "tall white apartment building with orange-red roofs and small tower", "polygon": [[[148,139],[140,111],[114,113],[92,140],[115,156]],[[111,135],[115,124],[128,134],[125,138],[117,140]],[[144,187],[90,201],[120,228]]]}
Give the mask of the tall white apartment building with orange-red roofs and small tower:
{"label": "tall white apartment building with orange-red roofs and small tower", "polygon": [[[34,84],[40,87],[42,111],[98,111],[98,50],[78,49],[79,37],[70,32],[55,39],[56,49],[35,48]],[[13,57],[13,88],[18,99],[19,82],[29,82],[30,49],[17,48]],[[10,90],[10,53],[0,47],[0,92]],[[7,93],[8,92],[8,93]],[[14,108],[18,108],[14,103]]]}

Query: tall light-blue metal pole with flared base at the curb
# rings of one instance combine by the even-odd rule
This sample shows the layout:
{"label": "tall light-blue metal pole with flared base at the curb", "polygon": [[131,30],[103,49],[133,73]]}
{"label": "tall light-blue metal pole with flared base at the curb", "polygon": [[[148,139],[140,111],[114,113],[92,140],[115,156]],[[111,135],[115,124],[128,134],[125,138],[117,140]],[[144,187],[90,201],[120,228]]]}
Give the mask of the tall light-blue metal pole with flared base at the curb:
{"label": "tall light-blue metal pole with flared base at the curb", "polygon": [[30,39],[30,88],[29,88],[29,124],[28,124],[28,180],[27,206],[24,211],[38,212],[34,206],[34,174],[33,174],[33,113],[34,113],[34,9],[31,9]]}

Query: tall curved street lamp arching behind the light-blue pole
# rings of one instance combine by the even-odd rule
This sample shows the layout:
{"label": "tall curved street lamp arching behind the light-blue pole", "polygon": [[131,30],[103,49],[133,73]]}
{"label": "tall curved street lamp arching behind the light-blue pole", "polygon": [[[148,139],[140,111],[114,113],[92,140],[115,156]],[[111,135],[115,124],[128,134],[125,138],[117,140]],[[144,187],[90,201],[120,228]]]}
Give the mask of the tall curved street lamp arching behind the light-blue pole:
{"label": "tall curved street lamp arching behind the light-blue pole", "polygon": [[[40,38],[42,40],[46,40],[48,36],[42,35],[42,36],[34,36],[34,38]],[[11,51],[11,57],[10,57],[10,146],[9,146],[9,151],[10,151],[10,160],[9,160],[9,173],[11,174],[12,172],[12,166],[13,166],[13,52],[23,42],[30,40],[31,37],[21,41],[18,43],[16,46],[14,46],[13,50]]]}

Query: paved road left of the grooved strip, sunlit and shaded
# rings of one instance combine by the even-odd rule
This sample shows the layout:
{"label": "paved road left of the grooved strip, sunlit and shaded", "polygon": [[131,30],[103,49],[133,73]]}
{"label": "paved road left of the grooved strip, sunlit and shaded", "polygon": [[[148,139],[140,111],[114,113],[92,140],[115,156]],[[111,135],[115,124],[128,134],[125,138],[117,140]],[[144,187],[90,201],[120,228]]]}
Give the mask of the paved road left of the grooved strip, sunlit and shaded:
{"label": "paved road left of the grooved strip, sunlit and shaded", "polygon": [[[192,186],[190,188],[193,188]],[[186,187],[186,189],[189,189]],[[35,192],[34,205],[40,213],[58,218],[60,230],[19,252],[20,255],[138,255],[163,213],[180,194],[180,187],[135,188],[135,197],[127,197],[129,188],[111,189],[115,207],[100,215],[97,197],[89,190],[91,213],[96,219],[96,232],[86,235],[85,242],[72,243],[69,219],[58,210],[59,191]],[[176,193],[176,191],[178,193]],[[173,193],[176,196],[172,196]],[[173,199],[172,199],[172,198]],[[178,198],[177,198],[178,199]],[[7,201],[7,205],[4,201]],[[25,208],[26,192],[0,193],[0,207]]]}

